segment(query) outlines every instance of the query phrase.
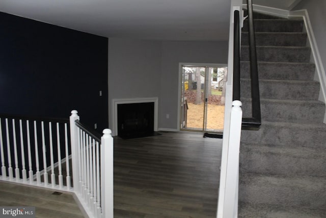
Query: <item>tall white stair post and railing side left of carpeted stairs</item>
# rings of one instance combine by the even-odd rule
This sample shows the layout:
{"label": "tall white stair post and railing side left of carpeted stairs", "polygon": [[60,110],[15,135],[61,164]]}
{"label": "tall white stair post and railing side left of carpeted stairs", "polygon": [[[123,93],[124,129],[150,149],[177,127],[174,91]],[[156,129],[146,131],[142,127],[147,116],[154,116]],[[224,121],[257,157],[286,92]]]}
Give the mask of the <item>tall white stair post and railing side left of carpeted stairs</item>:
{"label": "tall white stair post and railing side left of carpeted stairs", "polygon": [[[240,136],[237,136],[237,138],[235,136],[241,133],[241,120],[242,120],[242,118],[237,118],[237,120],[234,121],[234,113],[240,112],[236,110],[236,108],[238,108],[239,106],[234,105],[233,102],[233,70],[234,70],[233,69],[234,44],[233,43],[234,43],[234,11],[235,10],[238,10],[240,12],[242,11],[242,0],[231,0],[231,8],[230,8],[228,77],[226,78],[227,81],[226,81],[226,97],[225,97],[226,100],[225,100],[225,113],[224,113],[223,150],[222,150],[222,161],[221,161],[218,212],[216,214],[216,217],[218,218],[237,217],[237,209],[238,209],[237,208],[238,179],[231,181],[230,183],[230,176],[233,175],[231,177],[234,177],[233,173],[238,175],[239,166],[233,164],[232,161],[234,158],[236,158],[237,160],[239,158],[238,152],[233,153],[233,151],[234,149],[239,147],[240,144]],[[242,17],[242,15],[240,17]],[[232,116],[233,118],[231,118]],[[229,192],[230,190],[231,192]]]}

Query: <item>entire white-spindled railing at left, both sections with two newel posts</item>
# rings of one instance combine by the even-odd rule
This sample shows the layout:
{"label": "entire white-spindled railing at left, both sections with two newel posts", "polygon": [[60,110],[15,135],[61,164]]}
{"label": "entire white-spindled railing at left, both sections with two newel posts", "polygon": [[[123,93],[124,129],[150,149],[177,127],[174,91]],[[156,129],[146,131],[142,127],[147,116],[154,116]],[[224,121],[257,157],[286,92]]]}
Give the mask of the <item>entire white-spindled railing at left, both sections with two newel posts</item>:
{"label": "entire white-spindled railing at left, both sections with two newel posts", "polygon": [[77,111],[70,120],[0,115],[0,158],[0,181],[74,192],[89,217],[113,218],[111,130],[90,131]]}

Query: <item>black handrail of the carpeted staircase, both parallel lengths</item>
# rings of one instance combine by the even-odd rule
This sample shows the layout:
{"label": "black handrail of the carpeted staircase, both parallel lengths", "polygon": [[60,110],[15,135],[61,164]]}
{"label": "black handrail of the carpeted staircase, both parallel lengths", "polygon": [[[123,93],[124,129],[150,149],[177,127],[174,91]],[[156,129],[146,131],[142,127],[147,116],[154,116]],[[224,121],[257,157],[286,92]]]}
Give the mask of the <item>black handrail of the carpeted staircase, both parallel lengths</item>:
{"label": "black handrail of the carpeted staircase, both parallel lengths", "polygon": [[[255,27],[253,18],[252,0],[247,0],[249,22],[249,55],[250,55],[250,78],[252,117],[242,117],[242,127],[260,127],[260,92],[258,80],[257,52]],[[240,100],[240,41],[239,41],[239,11],[234,12],[234,62],[233,62],[233,100]]]}

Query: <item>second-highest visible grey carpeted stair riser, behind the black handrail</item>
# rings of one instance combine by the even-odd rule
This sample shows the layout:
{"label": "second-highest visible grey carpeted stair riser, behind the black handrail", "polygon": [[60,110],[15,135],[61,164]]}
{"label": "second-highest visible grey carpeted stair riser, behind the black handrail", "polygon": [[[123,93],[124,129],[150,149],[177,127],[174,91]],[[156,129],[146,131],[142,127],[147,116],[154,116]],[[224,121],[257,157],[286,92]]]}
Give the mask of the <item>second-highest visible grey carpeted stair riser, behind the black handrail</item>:
{"label": "second-highest visible grey carpeted stair riser, behind the black handrail", "polygon": [[[302,32],[302,20],[255,19],[255,32]],[[248,32],[248,19],[243,22],[243,32]]]}

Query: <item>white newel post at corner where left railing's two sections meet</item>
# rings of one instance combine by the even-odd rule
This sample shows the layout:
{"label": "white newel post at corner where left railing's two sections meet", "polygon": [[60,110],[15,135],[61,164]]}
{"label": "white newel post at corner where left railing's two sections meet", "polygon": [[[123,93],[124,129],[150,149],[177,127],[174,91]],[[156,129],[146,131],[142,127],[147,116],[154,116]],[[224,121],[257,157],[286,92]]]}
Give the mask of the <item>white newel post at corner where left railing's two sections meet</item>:
{"label": "white newel post at corner where left railing's two sections meet", "polygon": [[78,112],[76,110],[71,111],[70,116],[70,142],[71,142],[71,160],[72,160],[72,182],[73,182],[73,188],[75,191],[78,190],[79,184],[78,184],[78,178],[79,178],[79,172],[78,172],[78,137],[77,137],[77,127],[75,125],[75,120],[79,120],[79,116],[77,114]]}

